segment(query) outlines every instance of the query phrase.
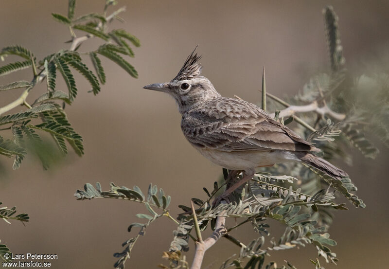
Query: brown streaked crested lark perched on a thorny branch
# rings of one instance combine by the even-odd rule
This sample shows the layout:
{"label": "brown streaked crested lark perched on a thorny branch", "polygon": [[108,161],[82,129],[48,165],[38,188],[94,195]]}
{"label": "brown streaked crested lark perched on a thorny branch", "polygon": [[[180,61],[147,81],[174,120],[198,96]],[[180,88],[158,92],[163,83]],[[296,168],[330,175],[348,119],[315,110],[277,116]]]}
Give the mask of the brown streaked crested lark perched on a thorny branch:
{"label": "brown streaked crested lark perched on a thorny branch", "polygon": [[[196,50],[196,48],[195,48]],[[348,177],[335,165],[315,155],[320,151],[300,135],[276,121],[257,105],[222,97],[211,81],[201,75],[201,55],[195,50],[170,82],[144,89],[168,93],[181,114],[186,140],[213,163],[243,176],[214,200],[216,205],[252,179],[259,167],[302,162],[333,179]]]}

